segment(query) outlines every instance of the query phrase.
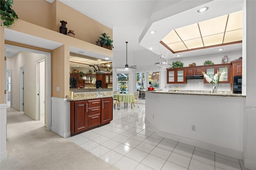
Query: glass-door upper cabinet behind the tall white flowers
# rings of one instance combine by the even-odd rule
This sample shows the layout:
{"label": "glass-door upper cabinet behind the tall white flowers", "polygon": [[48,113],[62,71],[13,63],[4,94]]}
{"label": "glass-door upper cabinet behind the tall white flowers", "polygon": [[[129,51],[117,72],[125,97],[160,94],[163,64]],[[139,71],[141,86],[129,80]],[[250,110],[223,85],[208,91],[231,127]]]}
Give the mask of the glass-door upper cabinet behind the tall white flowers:
{"label": "glass-door upper cabinet behind the tall white flowers", "polygon": [[[230,63],[227,64],[216,64],[216,65],[207,65],[204,66],[204,72],[209,75],[211,78],[219,71],[220,73],[225,69],[224,81],[220,81],[220,83],[232,83],[231,71],[230,71]],[[208,83],[206,79],[204,79],[204,83]]]}

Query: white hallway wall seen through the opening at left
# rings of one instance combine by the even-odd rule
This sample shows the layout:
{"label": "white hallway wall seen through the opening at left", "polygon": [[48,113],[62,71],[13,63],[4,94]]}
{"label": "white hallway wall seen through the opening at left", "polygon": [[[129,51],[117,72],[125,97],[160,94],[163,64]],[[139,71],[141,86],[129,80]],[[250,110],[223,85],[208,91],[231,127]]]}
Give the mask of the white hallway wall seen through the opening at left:
{"label": "white hallway wall seen through the opening at left", "polygon": [[[20,52],[12,57],[12,106],[20,110],[20,67],[24,66],[24,114],[33,120],[36,120],[36,61],[44,59],[45,55]],[[8,66],[10,67],[8,64]]]}

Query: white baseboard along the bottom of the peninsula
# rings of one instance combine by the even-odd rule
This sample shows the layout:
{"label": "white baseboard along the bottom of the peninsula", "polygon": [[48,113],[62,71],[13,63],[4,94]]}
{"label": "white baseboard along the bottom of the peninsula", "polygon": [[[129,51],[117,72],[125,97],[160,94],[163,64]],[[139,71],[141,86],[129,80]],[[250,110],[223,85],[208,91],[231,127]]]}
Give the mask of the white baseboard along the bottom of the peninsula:
{"label": "white baseboard along the bottom of the peninsula", "polygon": [[178,142],[182,142],[182,143],[185,143],[185,144],[196,146],[198,148],[203,148],[203,149],[206,149],[206,150],[210,150],[212,152],[217,152],[217,153],[224,154],[224,155],[227,155],[227,156],[231,156],[231,157],[234,157],[234,158],[242,159],[242,151],[240,151],[240,150],[234,150],[234,149],[231,149],[231,148],[226,148],[226,147],[223,147],[223,146],[218,146],[218,145],[210,144],[210,143],[203,142],[203,141],[194,140],[194,139],[186,138],[186,137],[183,137],[183,136],[178,136],[176,134],[163,132],[163,131],[158,130],[157,127],[154,127],[146,119],[145,119],[145,124],[147,126],[150,126],[151,128],[153,128],[153,130],[156,132],[156,134],[158,134],[160,137],[168,138],[168,139],[171,139],[171,140],[175,140],[175,141],[178,141]]}

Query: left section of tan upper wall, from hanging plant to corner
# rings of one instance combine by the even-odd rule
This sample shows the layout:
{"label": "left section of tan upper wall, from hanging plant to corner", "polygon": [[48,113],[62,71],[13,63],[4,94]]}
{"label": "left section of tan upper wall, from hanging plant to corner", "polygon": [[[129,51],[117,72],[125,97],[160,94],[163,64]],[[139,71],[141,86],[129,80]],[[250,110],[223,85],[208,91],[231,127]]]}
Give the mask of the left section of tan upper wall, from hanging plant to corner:
{"label": "left section of tan upper wall, from hanging plant to corner", "polygon": [[52,29],[52,4],[46,0],[14,0],[12,9],[19,19]]}

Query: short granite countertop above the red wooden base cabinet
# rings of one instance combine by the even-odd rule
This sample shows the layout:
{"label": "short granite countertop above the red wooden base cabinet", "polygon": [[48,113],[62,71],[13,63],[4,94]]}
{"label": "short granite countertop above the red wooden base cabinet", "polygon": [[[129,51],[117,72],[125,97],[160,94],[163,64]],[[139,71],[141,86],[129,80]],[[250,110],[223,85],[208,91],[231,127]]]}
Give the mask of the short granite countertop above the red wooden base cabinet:
{"label": "short granite countertop above the red wooden base cabinet", "polygon": [[74,96],[71,97],[71,95],[67,96],[67,101],[80,101],[80,100],[89,100],[89,99],[102,99],[102,98],[108,98],[113,97],[112,91],[103,91],[100,92],[101,96],[97,96],[97,93],[74,93]]}

